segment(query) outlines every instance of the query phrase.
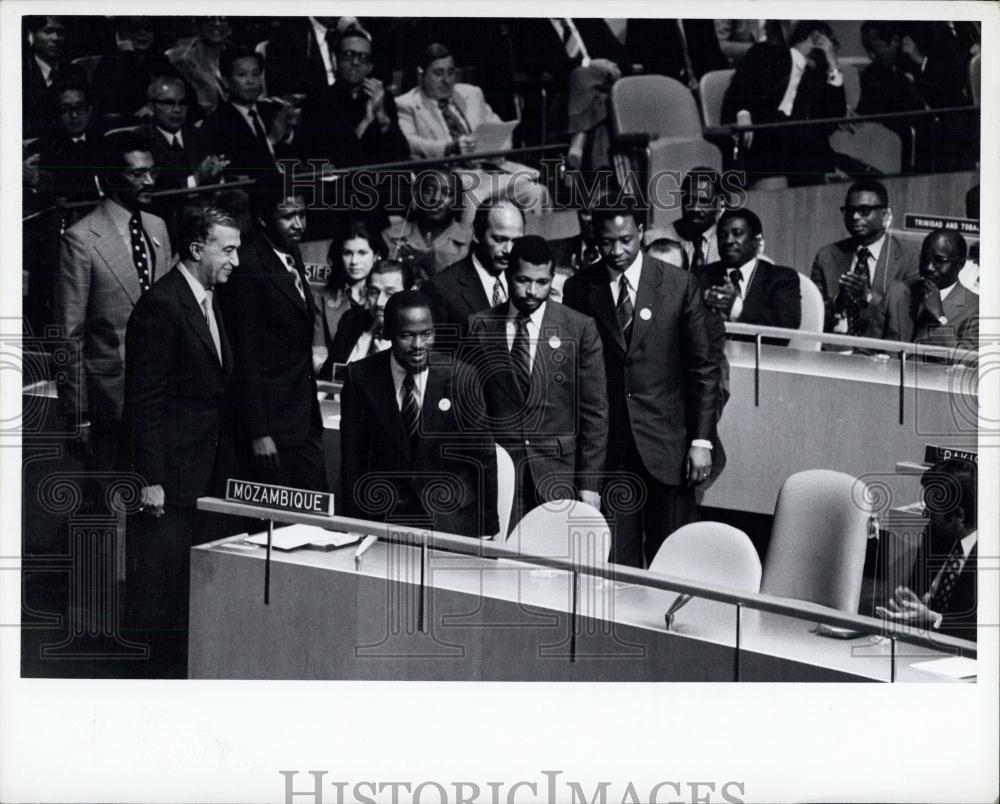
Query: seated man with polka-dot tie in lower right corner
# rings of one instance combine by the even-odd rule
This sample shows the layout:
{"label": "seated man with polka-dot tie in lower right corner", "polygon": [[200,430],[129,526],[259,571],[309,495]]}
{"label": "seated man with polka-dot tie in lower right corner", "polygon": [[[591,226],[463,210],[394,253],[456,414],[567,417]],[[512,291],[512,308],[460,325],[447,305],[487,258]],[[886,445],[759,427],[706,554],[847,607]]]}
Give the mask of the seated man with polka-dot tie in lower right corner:
{"label": "seated man with polka-dot tie in lower right corner", "polygon": [[878,614],[976,641],[977,475],[976,464],[949,458],[921,476],[927,531],[908,584]]}

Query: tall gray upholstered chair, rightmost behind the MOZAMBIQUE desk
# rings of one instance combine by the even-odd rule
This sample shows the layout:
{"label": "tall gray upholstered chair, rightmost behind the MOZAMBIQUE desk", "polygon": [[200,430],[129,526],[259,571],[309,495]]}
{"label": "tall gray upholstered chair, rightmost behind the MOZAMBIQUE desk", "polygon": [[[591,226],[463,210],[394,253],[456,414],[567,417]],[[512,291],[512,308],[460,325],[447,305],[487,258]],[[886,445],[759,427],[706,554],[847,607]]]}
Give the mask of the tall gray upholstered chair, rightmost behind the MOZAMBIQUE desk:
{"label": "tall gray upholstered chair, rightmost behind the MOZAMBIQUE desk", "polygon": [[811,469],[778,492],[760,591],[856,613],[872,521],[867,486]]}

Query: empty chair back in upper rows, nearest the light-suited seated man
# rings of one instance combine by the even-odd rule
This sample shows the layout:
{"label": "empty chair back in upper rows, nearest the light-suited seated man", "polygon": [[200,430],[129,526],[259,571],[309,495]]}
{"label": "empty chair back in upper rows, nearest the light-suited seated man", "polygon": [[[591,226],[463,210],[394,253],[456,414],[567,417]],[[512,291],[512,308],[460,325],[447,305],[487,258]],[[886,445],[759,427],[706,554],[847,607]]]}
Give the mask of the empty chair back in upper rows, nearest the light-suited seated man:
{"label": "empty chair back in upper rows, nearest the light-suited seated man", "polygon": [[615,134],[700,138],[702,130],[691,90],[664,75],[632,75],[615,81],[611,122]]}

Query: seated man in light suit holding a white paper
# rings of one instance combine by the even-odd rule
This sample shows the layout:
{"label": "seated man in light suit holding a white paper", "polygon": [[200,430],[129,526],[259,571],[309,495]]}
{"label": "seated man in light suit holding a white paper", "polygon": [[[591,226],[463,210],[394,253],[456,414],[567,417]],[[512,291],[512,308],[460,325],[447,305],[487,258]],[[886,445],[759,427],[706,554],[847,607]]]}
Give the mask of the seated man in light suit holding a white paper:
{"label": "seated man in light suit holding a white paper", "polygon": [[[482,90],[455,81],[455,61],[442,44],[428,45],[420,54],[418,85],[396,99],[399,127],[406,135],[414,159],[469,154],[476,151],[476,129],[481,123],[499,123]],[[505,147],[509,148],[510,141]],[[470,160],[470,161],[474,161]],[[493,172],[488,172],[493,171]],[[548,191],[536,183],[538,171],[493,160],[490,165],[460,172],[466,194],[468,218],[475,205],[496,192],[506,192],[524,209],[540,212],[549,206]]]}

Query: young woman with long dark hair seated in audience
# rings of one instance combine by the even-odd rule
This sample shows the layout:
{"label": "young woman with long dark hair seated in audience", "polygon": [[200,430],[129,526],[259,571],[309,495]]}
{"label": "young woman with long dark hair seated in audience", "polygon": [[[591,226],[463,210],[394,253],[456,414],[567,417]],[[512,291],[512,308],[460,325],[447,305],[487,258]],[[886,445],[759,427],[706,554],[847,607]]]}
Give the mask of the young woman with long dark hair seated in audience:
{"label": "young woman with long dark hair seated in audience", "polygon": [[[327,263],[329,278],[316,294],[320,327],[314,347],[322,346],[329,355],[340,319],[349,310],[366,310],[367,280],[375,264],[385,257],[385,247],[367,220],[355,220],[330,242]],[[331,379],[332,361],[320,369],[320,379]]]}

